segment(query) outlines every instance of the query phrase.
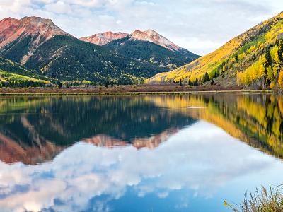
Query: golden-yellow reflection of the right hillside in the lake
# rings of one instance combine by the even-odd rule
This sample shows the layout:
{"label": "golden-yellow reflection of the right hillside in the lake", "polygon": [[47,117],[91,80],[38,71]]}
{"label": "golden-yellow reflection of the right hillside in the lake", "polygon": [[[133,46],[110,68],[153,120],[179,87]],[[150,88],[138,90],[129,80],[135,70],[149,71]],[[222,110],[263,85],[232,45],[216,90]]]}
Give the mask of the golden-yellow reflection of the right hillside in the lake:
{"label": "golden-yellow reflection of the right hillside in the lake", "polygon": [[148,100],[207,120],[250,146],[283,158],[283,96],[217,93]]}

